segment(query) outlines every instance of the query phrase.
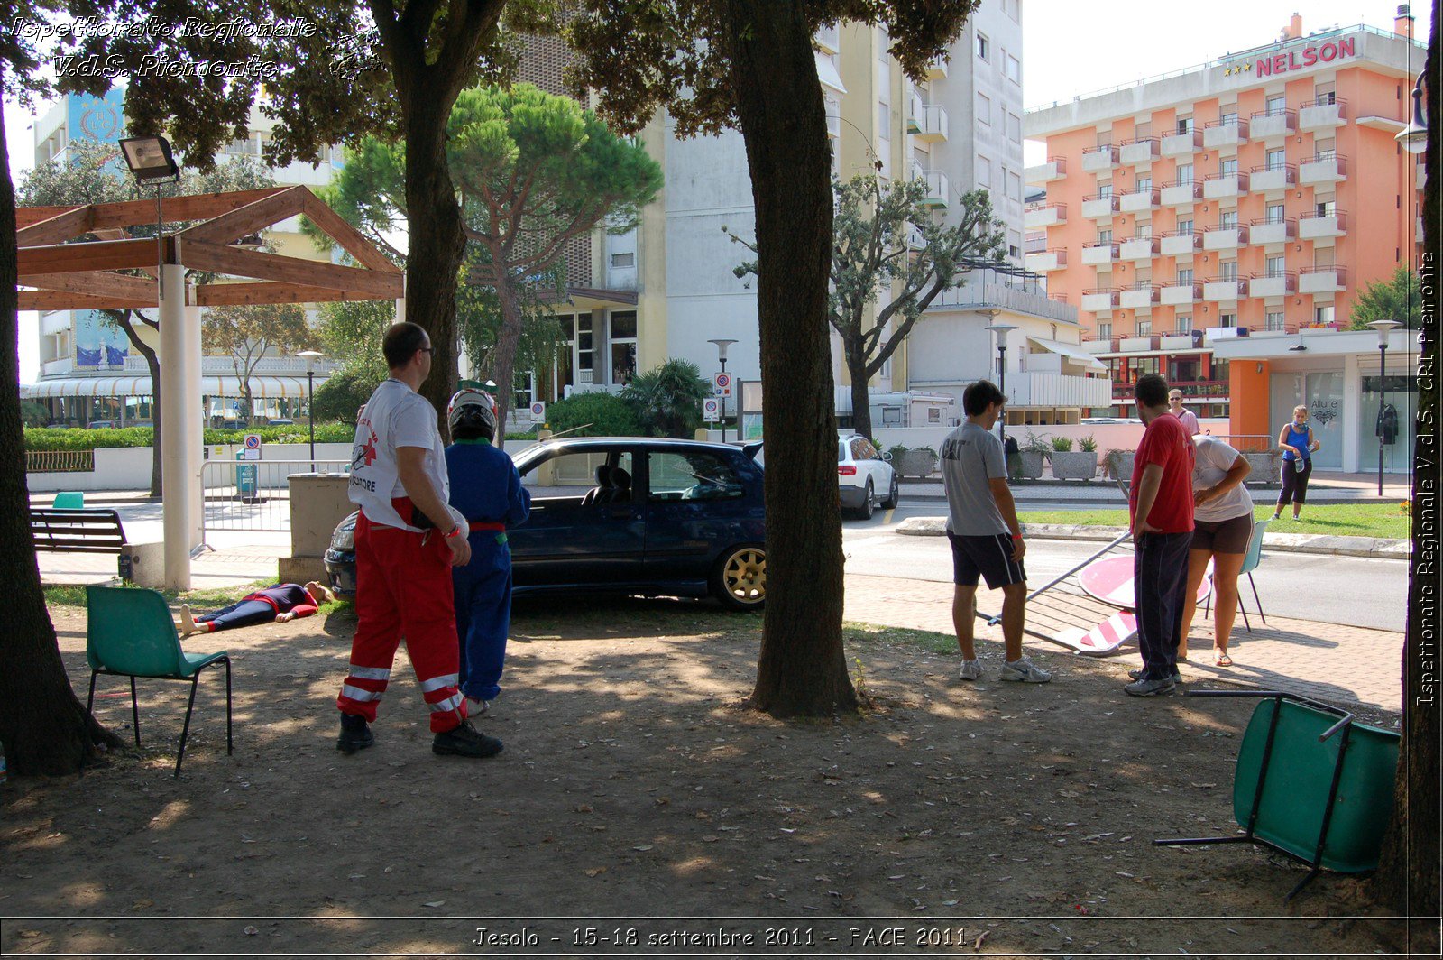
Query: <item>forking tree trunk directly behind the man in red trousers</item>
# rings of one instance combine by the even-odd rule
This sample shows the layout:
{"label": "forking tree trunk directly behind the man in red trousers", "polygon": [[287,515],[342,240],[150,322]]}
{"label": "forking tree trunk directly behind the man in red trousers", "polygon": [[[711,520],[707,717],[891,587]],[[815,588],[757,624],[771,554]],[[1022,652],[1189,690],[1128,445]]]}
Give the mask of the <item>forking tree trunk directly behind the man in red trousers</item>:
{"label": "forking tree trunk directly behind the man in red trousers", "polygon": [[431,338],[431,375],[421,396],[436,409],[446,436],[446,401],[456,390],[456,277],[466,237],[446,163],[446,118],[453,101],[417,84],[405,110],[405,319]]}

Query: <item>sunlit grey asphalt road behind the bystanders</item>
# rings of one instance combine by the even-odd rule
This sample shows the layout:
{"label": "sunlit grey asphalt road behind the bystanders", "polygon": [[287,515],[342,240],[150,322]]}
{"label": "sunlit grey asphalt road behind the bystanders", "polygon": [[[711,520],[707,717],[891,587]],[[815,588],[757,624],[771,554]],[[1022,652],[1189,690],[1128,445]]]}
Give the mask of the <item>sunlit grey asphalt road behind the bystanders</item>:
{"label": "sunlit grey asphalt road behind the bystanders", "polygon": [[[944,515],[941,504],[879,511],[870,521],[843,523],[848,572],[866,572],[908,580],[948,582],[951,551],[945,537],[903,537],[893,530],[908,517]],[[1032,540],[1027,543],[1027,576],[1042,585],[1100,550],[1101,543]],[[1264,612],[1345,627],[1403,631],[1407,614],[1408,566],[1403,560],[1332,557],[1307,553],[1264,553],[1253,575]],[[1253,596],[1242,593],[1248,609]],[[1241,618],[1238,629],[1242,628]]]}

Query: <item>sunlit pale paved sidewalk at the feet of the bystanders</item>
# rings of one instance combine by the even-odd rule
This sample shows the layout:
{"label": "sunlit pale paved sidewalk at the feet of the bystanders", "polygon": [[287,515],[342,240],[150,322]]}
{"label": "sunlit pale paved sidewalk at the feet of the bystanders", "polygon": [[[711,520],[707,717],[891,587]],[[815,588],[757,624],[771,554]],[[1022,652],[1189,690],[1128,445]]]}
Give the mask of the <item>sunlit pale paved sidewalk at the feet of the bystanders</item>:
{"label": "sunlit pale paved sidewalk at the feet of the bystanders", "polygon": [[[844,616],[848,621],[948,635],[954,632],[951,583],[848,573],[846,590]],[[984,612],[996,612],[999,603],[1000,601],[978,595],[978,606]],[[993,641],[980,651],[991,676],[990,671],[1000,664],[1001,627],[986,627],[978,621],[977,638]],[[1033,650],[1068,653],[1065,647],[1035,637],[1026,637],[1025,644]],[[1281,616],[1271,616],[1266,625],[1254,618],[1250,634],[1238,618],[1228,653],[1235,666],[1212,666],[1212,621],[1203,619],[1199,611],[1192,629],[1192,658],[1179,664],[1183,680],[1286,690],[1343,707],[1361,706],[1390,713],[1398,713],[1403,704],[1398,678],[1403,634]],[[1127,681],[1123,668],[1143,663],[1136,641],[1124,644],[1118,655],[1104,660],[1117,664],[1117,696],[1126,696],[1121,691]],[[1066,683],[1065,666],[1061,673],[1056,683]]]}

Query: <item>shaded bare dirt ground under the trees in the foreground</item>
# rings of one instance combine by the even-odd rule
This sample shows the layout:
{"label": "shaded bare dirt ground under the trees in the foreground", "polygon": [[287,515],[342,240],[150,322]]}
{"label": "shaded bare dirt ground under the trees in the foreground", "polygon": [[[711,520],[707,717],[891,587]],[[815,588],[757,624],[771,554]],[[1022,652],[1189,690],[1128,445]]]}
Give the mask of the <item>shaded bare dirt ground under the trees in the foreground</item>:
{"label": "shaded bare dirt ground under the trees in the foreground", "polygon": [[[84,697],[84,611],[53,615]],[[573,601],[517,609],[505,693],[481,720],[499,758],[431,755],[404,653],[377,746],[342,756],[352,625],[341,612],[192,638],[234,655],[234,756],[224,674],[202,678],[179,781],[186,687],[141,683],[143,749],[0,787],[0,950],[1400,948],[1351,878],[1284,905],[1303,868],[1278,853],[1152,846],[1235,830],[1251,702],[1130,699],[1123,664],[1062,654],[1035,654],[1052,684],[1001,684],[996,644],[968,684],[947,638],[854,628],[866,716],[779,722],[742,703],[759,618]],[[98,713],[130,736],[126,683],[101,691]]]}

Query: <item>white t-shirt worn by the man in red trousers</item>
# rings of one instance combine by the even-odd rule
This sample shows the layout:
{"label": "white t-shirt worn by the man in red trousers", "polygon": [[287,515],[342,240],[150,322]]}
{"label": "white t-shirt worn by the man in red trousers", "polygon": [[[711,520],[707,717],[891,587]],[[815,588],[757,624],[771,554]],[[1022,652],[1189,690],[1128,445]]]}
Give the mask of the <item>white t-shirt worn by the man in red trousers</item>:
{"label": "white t-shirt worn by the man in red trousers", "polygon": [[[371,523],[420,531],[420,527],[405,523],[391,505],[392,498],[405,497],[395,459],[395,450],[401,446],[426,450],[426,476],[436,486],[442,502],[447,502],[450,481],[446,476],[446,448],[436,426],[436,411],[418,393],[400,380],[388,378],[375,388],[356,419],[349,497]],[[433,521],[446,524],[444,517]]]}

